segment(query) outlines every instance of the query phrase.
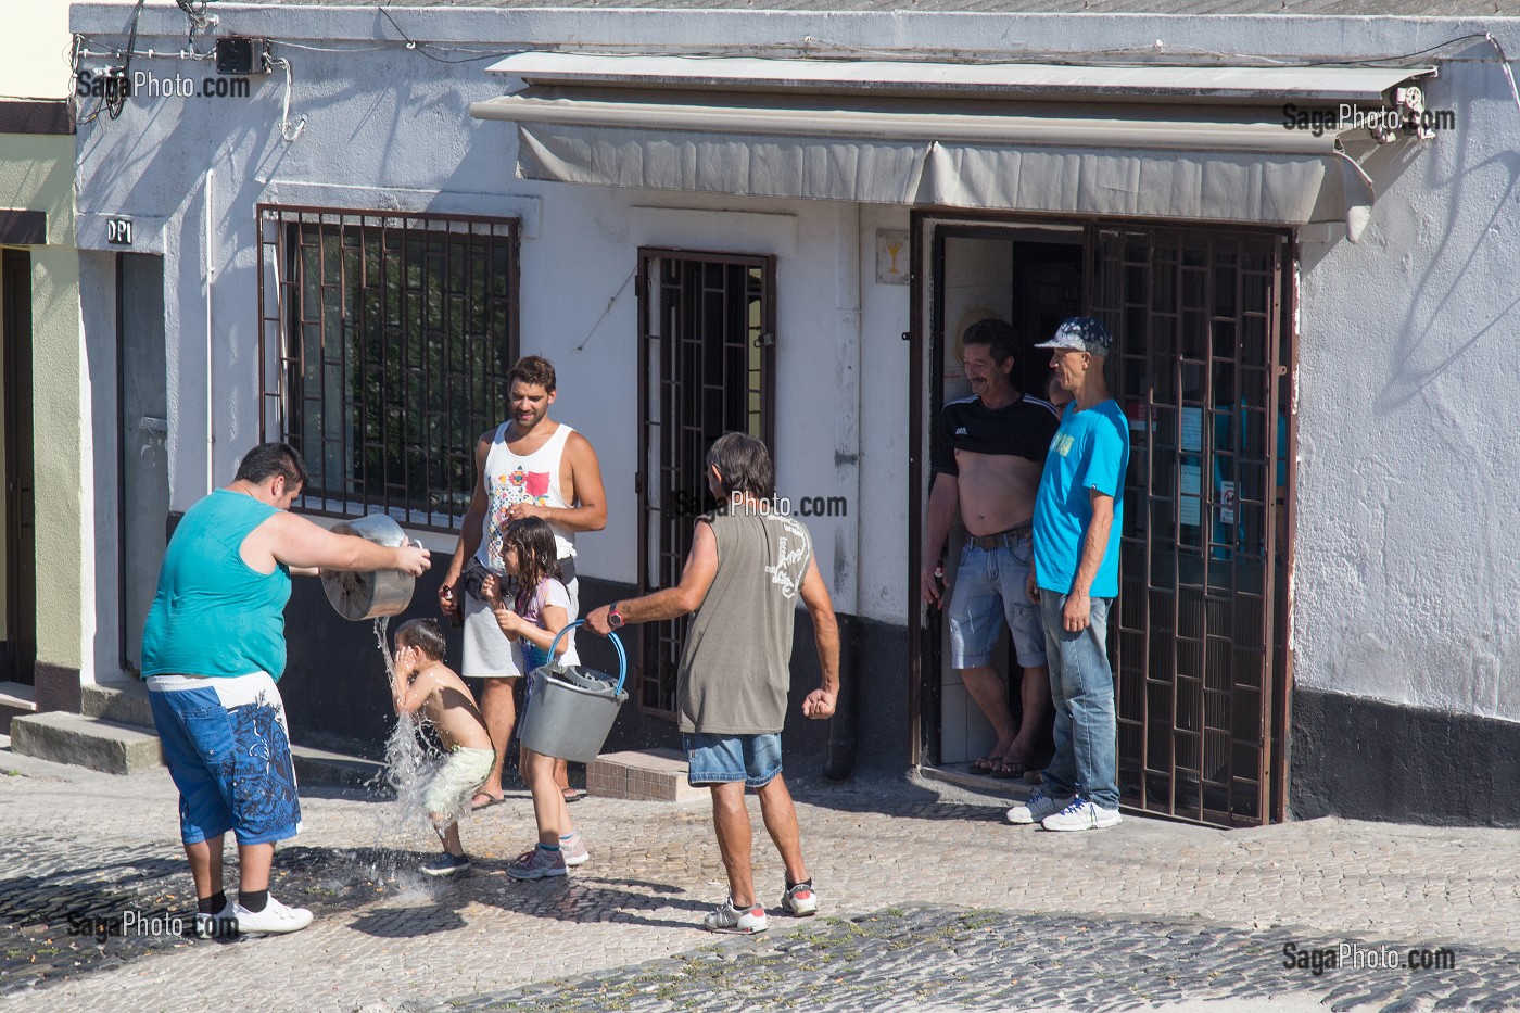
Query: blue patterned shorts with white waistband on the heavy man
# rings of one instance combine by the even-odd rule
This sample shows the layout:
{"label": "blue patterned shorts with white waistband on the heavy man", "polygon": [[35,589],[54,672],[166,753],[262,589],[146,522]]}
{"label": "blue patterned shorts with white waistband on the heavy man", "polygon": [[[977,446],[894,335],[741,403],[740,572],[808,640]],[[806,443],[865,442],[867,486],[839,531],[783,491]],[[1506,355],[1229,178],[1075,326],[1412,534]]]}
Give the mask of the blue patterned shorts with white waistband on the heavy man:
{"label": "blue patterned shorts with white waistband on the heavy man", "polygon": [[284,703],[263,672],[236,678],[154,675],[147,703],[169,776],[179,789],[179,838],[233,830],[269,844],[301,830]]}

